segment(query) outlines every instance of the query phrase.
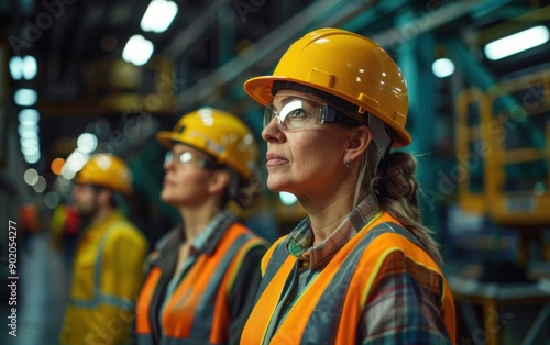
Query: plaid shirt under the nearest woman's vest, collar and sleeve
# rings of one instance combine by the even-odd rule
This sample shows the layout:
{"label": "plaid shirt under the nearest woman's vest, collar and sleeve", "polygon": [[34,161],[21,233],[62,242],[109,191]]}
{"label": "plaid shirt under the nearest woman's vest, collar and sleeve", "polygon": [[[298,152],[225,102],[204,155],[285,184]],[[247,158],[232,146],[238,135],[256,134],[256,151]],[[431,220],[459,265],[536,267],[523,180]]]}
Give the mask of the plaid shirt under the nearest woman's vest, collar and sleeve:
{"label": "plaid shirt under the nearest woman's vest, collar and sleeve", "polygon": [[[382,214],[374,198],[369,197],[315,247],[309,219],[305,219],[285,241],[288,253],[304,261],[296,297],[353,235]],[[443,291],[444,282],[438,272],[416,264],[400,251],[391,253],[369,291],[356,329],[358,344],[451,343],[442,315]]]}

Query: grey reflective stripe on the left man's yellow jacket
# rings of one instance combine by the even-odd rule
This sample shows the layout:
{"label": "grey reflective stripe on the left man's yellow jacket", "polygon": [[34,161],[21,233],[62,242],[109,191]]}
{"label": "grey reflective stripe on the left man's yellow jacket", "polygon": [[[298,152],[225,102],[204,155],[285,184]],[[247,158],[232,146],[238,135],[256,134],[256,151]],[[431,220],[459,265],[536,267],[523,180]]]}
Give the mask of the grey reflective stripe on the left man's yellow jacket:
{"label": "grey reflective stripe on the left man's yellow jacket", "polygon": [[101,240],[99,242],[99,249],[98,254],[96,257],[96,263],[94,265],[94,297],[91,300],[85,300],[85,299],[72,299],[70,304],[78,307],[78,308],[97,308],[100,303],[106,303],[110,304],[113,307],[120,307],[120,308],[125,308],[125,309],[132,309],[132,301],[120,298],[118,296],[113,294],[108,294],[101,292],[101,268],[103,266],[103,251],[106,247],[107,238],[109,237],[109,234],[114,231],[119,226],[124,226],[122,222],[114,222],[109,226],[109,229],[106,231],[103,236],[101,236]]}

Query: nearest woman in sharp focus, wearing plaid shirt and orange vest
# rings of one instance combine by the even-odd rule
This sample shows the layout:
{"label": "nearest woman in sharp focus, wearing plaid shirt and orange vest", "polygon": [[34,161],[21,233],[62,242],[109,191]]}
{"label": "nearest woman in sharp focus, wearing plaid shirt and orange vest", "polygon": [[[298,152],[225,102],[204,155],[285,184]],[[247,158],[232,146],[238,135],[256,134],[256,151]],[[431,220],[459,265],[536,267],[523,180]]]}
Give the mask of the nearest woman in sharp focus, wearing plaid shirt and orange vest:
{"label": "nearest woman in sharp focus, wearing plaid shirt and orange vest", "polygon": [[420,223],[402,71],[337,29],[294,43],[245,91],[266,105],[267,187],[308,213],[262,261],[242,344],[447,344],[454,307]]}

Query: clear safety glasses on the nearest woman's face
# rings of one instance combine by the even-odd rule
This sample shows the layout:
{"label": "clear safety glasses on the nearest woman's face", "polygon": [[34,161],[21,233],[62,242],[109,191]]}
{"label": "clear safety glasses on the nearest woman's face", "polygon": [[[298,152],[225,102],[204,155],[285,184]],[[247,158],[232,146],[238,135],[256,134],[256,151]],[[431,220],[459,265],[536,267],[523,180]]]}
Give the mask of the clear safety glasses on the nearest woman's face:
{"label": "clear safety glasses on the nearest woman's face", "polygon": [[[275,105],[277,104],[277,105]],[[276,96],[265,108],[264,129],[276,119],[285,131],[302,130],[320,123],[358,124],[353,119],[336,108],[300,97]]]}

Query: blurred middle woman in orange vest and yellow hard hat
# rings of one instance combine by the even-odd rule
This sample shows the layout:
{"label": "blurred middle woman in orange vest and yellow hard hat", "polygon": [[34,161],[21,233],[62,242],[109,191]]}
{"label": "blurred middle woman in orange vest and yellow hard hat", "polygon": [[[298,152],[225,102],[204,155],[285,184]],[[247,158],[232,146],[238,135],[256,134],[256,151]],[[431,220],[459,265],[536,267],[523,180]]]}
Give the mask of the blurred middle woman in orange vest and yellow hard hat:
{"label": "blurred middle woman in orange vest and yellow hard hat", "polygon": [[161,199],[182,214],[151,255],[136,308],[139,344],[239,344],[266,243],[237,222],[258,190],[256,144],[237,116],[185,114],[167,146]]}

